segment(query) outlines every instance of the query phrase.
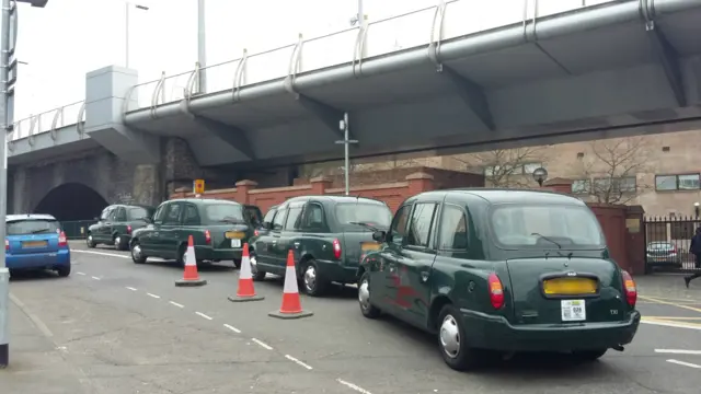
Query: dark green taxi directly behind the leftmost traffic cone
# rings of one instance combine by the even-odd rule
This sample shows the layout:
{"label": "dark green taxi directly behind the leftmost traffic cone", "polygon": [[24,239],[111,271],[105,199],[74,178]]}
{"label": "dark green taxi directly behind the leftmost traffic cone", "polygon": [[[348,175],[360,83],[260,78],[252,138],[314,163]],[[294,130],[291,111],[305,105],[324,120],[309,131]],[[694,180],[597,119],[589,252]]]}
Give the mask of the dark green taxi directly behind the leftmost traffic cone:
{"label": "dark green taxi directly behind the leftmost traffic cone", "polygon": [[148,257],[184,264],[187,240],[193,236],[197,262],[233,260],[241,266],[243,244],[262,220],[255,206],[207,198],[173,199],[161,204],[148,225],[134,231],[129,250],[134,263]]}

